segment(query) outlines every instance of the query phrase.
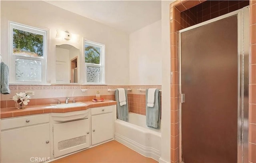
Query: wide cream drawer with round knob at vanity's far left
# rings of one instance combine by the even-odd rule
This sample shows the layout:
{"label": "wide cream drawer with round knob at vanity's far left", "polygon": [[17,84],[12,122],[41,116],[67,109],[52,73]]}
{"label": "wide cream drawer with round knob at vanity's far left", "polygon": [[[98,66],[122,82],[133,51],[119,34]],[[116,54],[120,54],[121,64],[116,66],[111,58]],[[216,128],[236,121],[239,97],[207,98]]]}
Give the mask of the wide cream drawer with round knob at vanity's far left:
{"label": "wide cream drawer with round knob at vanity's far left", "polygon": [[49,114],[1,120],[1,130],[49,122]]}

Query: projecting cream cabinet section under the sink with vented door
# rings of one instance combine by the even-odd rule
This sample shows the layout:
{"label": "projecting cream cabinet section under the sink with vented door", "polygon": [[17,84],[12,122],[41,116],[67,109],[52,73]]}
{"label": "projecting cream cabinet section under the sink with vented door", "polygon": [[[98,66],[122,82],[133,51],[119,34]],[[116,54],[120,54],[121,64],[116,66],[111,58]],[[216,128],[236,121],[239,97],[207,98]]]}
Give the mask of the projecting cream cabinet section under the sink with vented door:
{"label": "projecting cream cabinet section under the sink with vented door", "polygon": [[54,158],[90,147],[90,110],[51,113]]}

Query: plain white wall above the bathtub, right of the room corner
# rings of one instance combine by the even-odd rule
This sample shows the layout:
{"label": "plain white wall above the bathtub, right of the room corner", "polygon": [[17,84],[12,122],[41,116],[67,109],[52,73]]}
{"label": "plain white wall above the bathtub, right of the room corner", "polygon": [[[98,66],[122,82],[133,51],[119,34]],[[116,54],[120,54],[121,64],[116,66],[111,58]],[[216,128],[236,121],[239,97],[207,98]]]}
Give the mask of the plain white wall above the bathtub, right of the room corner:
{"label": "plain white wall above the bathtub, right of the room corner", "polygon": [[161,20],[130,34],[130,84],[161,85]]}

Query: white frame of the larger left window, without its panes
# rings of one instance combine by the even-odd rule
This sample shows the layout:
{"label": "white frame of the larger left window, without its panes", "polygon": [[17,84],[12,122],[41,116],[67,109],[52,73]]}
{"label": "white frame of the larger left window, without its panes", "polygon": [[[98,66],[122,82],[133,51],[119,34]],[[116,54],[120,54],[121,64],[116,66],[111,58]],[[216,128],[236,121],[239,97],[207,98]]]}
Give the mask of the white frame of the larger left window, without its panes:
{"label": "white frame of the larger left window, without its panes", "polygon": [[[19,55],[19,54],[14,54],[13,53],[13,29],[17,30],[22,30],[26,32],[30,32],[33,34],[40,34],[43,36],[43,57],[38,58],[38,57],[33,57],[33,56],[24,56],[24,55]],[[46,72],[47,72],[47,30],[43,30],[40,28],[32,27],[32,26],[27,26],[24,24],[16,23],[16,22],[11,22],[9,21],[9,55],[10,55],[10,60],[9,60],[9,69],[10,69],[10,83],[46,83]],[[42,74],[41,74],[41,81],[17,81],[16,80],[16,59],[26,59],[26,60],[36,60],[36,61],[41,61],[42,63]]]}

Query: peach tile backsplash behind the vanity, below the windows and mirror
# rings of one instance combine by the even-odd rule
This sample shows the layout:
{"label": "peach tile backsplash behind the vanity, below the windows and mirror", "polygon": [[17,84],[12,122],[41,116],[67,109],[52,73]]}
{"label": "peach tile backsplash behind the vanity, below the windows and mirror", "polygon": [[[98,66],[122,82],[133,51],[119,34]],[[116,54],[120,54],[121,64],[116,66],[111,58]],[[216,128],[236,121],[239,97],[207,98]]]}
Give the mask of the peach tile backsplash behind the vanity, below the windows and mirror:
{"label": "peach tile backsplash behind the vanity, below the windows and mirror", "polygon": [[[113,88],[114,85],[10,85],[11,93],[8,95],[1,94],[1,109],[5,107],[14,107],[15,101],[12,100],[12,96],[16,93],[25,91],[34,91],[35,95],[31,96],[28,105],[45,105],[51,103],[57,103],[60,100],[61,103],[66,101],[66,97],[70,97],[69,102],[73,99],[76,101],[90,101],[96,97],[96,91],[100,91],[104,99],[115,99],[114,91],[108,92],[108,88]],[[123,86],[122,86],[123,87]],[[88,89],[82,92],[81,89]]]}

